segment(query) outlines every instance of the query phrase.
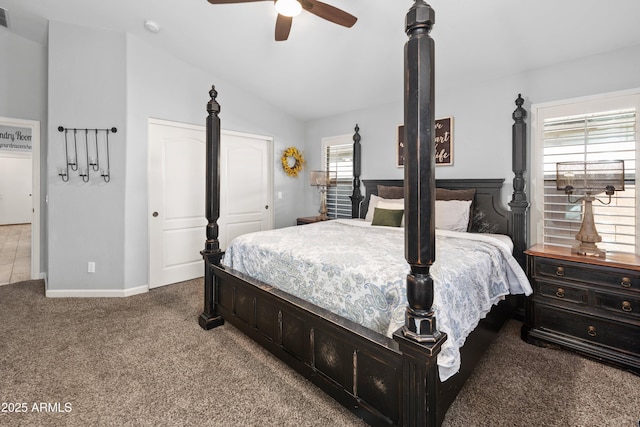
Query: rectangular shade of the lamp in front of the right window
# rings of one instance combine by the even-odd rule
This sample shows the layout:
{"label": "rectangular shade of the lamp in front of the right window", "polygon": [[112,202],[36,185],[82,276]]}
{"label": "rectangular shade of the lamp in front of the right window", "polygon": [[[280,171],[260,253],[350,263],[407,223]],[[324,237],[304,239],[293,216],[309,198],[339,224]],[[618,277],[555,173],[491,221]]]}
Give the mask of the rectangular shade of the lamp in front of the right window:
{"label": "rectangular shade of the lamp in front of the right window", "polygon": [[624,160],[556,163],[556,188],[587,194],[624,191]]}

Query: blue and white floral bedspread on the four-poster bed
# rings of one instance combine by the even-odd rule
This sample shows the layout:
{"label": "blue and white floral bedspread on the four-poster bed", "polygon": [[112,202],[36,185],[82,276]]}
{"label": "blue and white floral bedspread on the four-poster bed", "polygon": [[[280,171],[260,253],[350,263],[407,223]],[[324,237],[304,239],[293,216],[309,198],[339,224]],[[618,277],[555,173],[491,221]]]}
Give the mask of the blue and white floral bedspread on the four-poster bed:
{"label": "blue and white floral bedspread on the four-poster bed", "polygon": [[[460,347],[492,305],[532,292],[501,237],[436,231],[433,308],[448,335],[441,381],[459,370]],[[231,242],[223,263],[389,337],[404,325],[403,228],[333,220],[250,233]]]}

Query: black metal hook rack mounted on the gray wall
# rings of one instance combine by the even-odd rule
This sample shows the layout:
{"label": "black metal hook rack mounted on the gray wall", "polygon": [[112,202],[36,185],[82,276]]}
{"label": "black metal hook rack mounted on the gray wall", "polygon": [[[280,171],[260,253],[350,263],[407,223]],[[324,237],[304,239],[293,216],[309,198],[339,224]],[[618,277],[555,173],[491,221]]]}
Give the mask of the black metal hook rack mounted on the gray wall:
{"label": "black metal hook rack mounted on the gray wall", "polygon": [[[58,171],[58,175],[62,178],[63,182],[69,181],[69,170],[78,172],[83,182],[90,181],[91,171],[99,172],[104,182],[111,181],[109,134],[118,132],[117,128],[78,129],[58,126],[58,131],[64,132],[65,167]],[[71,137],[73,137],[73,152],[70,155],[69,143]],[[82,149],[83,141],[84,152]],[[78,149],[78,143],[80,143],[80,150]],[[106,161],[101,162],[101,155]],[[81,161],[82,157],[84,157],[84,162]],[[82,165],[84,166],[82,167]]]}

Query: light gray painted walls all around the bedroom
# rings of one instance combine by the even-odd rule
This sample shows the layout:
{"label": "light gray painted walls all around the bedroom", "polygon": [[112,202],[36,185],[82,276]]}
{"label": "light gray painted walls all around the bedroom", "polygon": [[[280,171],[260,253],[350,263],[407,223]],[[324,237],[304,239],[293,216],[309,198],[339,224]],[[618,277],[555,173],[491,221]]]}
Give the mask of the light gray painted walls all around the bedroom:
{"label": "light gray painted walls all around the bedroom", "polygon": [[[49,36],[47,54],[47,47],[0,28],[0,115],[41,122],[41,271],[48,272],[50,289],[125,290],[147,283],[147,119],[203,124],[211,84],[220,94],[223,128],[274,137],[274,194],[283,193],[282,200],[274,200],[276,227],[293,225],[297,216],[318,208],[317,192],[308,186],[306,174],[293,179],[282,172],[279,157],[287,146],[304,149],[311,170],[320,165],[321,139],[352,133],[358,123],[362,177],[402,177],[394,151],[395,129],[403,120],[400,101],[300,123],[134,36],[57,22],[50,23]],[[438,88],[436,116],[451,115],[455,124],[454,164],[438,167],[436,175],[505,177],[508,197],[510,115],[519,92],[529,107],[636,87],[640,45],[455,89]],[[59,125],[118,127],[111,183],[81,184],[77,176],[69,183],[60,181],[57,169],[64,159]],[[87,261],[96,262],[95,274],[86,273]]]}

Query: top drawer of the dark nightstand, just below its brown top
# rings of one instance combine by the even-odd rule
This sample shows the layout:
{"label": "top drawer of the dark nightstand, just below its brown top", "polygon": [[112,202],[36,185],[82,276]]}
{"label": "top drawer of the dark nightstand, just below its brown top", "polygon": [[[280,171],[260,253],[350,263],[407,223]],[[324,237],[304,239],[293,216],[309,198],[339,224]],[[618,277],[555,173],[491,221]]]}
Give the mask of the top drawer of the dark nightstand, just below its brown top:
{"label": "top drawer of the dark nightstand, just below its brown top", "polygon": [[536,277],[593,283],[640,292],[640,274],[635,271],[594,268],[587,264],[537,257],[534,261],[533,274]]}

